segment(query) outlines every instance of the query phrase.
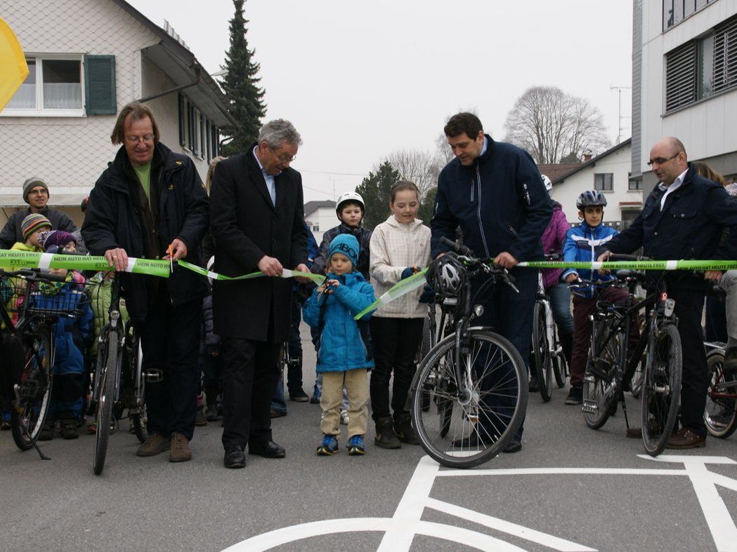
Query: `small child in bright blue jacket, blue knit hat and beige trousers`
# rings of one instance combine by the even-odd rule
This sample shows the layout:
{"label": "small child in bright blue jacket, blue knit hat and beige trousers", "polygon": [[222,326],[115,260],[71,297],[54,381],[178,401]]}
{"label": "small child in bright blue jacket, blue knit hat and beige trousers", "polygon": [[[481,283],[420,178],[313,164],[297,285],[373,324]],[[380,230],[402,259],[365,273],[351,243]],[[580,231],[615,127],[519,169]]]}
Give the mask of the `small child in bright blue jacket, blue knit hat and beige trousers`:
{"label": "small child in bright blue jacket, blue knit hat and beige trousers", "polygon": [[320,406],[323,439],[318,455],[331,456],[338,451],[340,403],[343,386],[348,392],[348,453],[366,453],[363,436],[368,426],[368,374],[374,360],[366,339],[364,316],[353,317],[374,302],[374,289],[355,267],[360,252],[358,241],[350,234],[340,234],[330,242],[327,279],[312,292],[304,304],[304,322],[320,332],[317,372],[323,377]]}

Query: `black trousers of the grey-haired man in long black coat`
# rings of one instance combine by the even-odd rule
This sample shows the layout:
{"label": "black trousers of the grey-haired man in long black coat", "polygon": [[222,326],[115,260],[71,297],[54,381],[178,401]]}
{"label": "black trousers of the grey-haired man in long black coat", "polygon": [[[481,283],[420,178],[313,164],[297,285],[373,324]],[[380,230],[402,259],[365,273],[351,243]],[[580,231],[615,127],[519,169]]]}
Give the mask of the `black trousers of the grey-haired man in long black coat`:
{"label": "black trousers of the grey-haired man in long black coat", "polygon": [[271,397],[279,381],[281,343],[223,338],[223,447],[271,439]]}

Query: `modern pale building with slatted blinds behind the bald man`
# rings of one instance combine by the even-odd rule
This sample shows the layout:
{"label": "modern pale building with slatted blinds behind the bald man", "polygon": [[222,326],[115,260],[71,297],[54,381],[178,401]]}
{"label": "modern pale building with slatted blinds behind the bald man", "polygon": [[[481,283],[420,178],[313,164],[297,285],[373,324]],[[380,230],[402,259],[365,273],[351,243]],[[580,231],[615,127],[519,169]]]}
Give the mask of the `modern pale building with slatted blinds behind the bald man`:
{"label": "modern pale building with slatted blinds behind the bald man", "polygon": [[632,177],[663,136],[737,177],[737,0],[635,0],[632,31]]}

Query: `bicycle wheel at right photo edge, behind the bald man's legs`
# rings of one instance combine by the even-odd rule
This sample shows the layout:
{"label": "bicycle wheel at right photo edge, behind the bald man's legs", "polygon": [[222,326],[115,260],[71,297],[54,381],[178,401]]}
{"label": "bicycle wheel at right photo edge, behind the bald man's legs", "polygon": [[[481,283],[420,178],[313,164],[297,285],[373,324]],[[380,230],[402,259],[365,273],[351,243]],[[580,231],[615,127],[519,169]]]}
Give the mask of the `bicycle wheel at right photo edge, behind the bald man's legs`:
{"label": "bicycle wheel at right photo edge, behind the bald man's legs", "polygon": [[724,372],[724,353],[713,350],[706,358],[709,391],[704,423],[709,435],[726,439],[737,429],[737,374]]}

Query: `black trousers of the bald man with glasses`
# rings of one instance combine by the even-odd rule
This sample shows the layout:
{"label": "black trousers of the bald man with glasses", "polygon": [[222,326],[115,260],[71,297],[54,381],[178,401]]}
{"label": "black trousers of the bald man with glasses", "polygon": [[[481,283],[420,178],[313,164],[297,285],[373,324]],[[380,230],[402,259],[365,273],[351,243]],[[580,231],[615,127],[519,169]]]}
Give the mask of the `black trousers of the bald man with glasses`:
{"label": "black trousers of the bald man with glasses", "polygon": [[709,374],[701,330],[705,294],[702,291],[680,289],[668,291],[668,297],[676,301],[674,312],[678,316],[683,358],[680,425],[700,437],[706,437],[704,408]]}

